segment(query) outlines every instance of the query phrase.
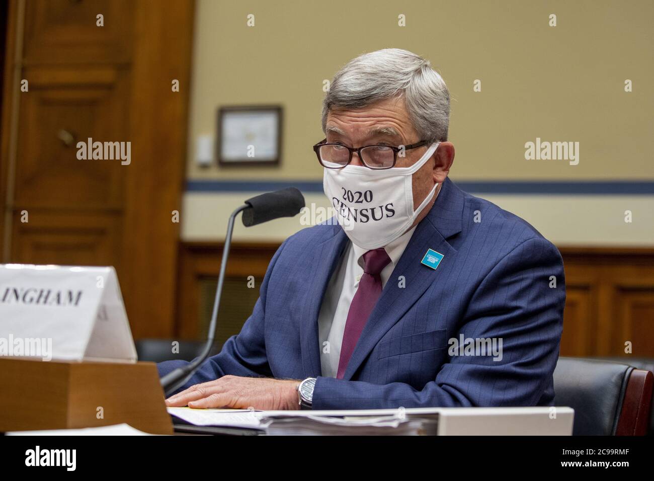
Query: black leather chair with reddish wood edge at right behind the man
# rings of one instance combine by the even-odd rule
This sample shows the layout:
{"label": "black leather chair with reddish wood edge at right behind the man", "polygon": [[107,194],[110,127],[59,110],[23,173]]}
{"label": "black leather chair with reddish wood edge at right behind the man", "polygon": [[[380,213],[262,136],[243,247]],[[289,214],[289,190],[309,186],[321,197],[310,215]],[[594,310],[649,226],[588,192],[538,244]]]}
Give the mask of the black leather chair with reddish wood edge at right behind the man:
{"label": "black leather chair with reddish wood edge at right behind the man", "polygon": [[575,410],[572,434],[645,435],[654,376],[623,363],[559,357],[555,406]]}

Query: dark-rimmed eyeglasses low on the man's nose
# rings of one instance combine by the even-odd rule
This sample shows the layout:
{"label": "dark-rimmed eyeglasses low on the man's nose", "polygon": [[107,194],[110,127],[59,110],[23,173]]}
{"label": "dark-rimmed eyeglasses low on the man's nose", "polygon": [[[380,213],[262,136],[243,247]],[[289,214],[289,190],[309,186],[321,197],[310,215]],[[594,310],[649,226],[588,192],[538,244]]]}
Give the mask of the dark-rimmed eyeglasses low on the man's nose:
{"label": "dark-rimmed eyeglasses low on the man's nose", "polygon": [[327,139],[324,139],[313,146],[313,151],[316,152],[320,165],[327,169],[342,169],[347,166],[352,161],[353,152],[356,152],[361,162],[370,169],[390,169],[395,166],[398,152],[416,149],[426,143],[428,141],[422,140],[404,147],[364,145],[364,147],[354,149],[339,143],[327,143]]}

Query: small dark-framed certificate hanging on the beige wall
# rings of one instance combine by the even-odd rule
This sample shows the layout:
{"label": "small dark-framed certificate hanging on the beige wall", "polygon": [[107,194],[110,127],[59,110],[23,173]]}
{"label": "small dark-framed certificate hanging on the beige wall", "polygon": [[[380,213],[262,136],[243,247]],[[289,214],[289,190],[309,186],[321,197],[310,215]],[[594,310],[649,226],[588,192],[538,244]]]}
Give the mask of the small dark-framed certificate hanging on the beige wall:
{"label": "small dark-framed certificate hanging on the beige wall", "polygon": [[282,107],[220,107],[216,139],[220,166],[277,166],[281,159]]}

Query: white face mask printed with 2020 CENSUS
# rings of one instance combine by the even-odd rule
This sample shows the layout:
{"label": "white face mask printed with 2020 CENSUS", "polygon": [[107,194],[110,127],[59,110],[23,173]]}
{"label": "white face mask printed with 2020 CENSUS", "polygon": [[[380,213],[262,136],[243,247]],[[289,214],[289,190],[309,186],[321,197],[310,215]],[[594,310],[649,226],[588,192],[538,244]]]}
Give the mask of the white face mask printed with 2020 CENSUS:
{"label": "white face mask printed with 2020 CENSUS", "polygon": [[413,173],[438,149],[432,143],[411,167],[369,169],[351,164],[341,169],[324,169],[322,188],[336,209],[339,224],[354,244],[377,249],[396,240],[429,204],[438,183],[413,210]]}

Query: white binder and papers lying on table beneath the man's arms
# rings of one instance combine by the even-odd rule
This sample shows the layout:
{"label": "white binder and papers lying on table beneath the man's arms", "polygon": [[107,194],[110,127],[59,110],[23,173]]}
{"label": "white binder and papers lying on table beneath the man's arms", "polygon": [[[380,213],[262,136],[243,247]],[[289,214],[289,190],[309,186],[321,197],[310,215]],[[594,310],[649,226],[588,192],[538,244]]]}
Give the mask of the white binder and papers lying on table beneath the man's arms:
{"label": "white binder and papers lying on table beneath the man's arms", "polygon": [[258,429],[268,435],[563,435],[568,407],[398,408],[261,411],[168,408],[198,426]]}

